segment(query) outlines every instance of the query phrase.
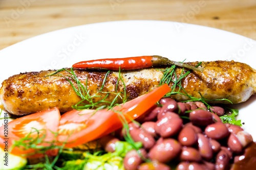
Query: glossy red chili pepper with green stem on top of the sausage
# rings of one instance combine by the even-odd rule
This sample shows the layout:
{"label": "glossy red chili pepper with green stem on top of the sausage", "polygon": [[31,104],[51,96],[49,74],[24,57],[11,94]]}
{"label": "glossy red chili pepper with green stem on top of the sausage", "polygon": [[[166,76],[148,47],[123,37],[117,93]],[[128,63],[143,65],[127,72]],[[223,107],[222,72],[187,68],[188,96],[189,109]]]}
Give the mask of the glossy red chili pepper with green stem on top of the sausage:
{"label": "glossy red chili pepper with green stem on top of the sausage", "polygon": [[73,64],[74,68],[83,69],[109,69],[109,70],[134,70],[141,68],[148,68],[159,65],[177,65],[197,71],[202,71],[202,68],[197,68],[181,62],[169,60],[168,58],[161,56],[140,56],[140,57],[127,57],[127,58],[115,58],[115,59],[98,59],[81,61]]}

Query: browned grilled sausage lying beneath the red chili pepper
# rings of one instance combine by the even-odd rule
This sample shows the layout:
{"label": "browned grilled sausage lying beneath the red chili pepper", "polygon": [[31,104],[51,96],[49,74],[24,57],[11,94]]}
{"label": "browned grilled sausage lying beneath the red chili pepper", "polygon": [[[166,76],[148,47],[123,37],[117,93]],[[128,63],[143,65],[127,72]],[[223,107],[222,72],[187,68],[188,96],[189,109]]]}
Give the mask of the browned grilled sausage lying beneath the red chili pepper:
{"label": "browned grilled sausage lying beneath the red chili pepper", "polygon": [[[196,66],[198,63],[187,64]],[[203,67],[204,71],[191,71],[182,79],[181,85],[189,95],[196,98],[201,98],[202,95],[208,100],[228,99],[236,104],[245,102],[255,93],[256,71],[247,64],[211,61],[202,62],[200,67]],[[58,107],[60,112],[71,110],[81,98],[66,79],[70,76],[68,71],[63,70],[49,76],[55,71],[25,72],[5,80],[0,89],[0,101],[4,110],[15,115],[31,114],[53,107]],[[177,78],[184,74],[183,68],[177,67],[175,71]],[[96,103],[104,99],[105,102],[99,103],[99,106],[109,105],[108,102],[112,102],[117,93],[120,97],[117,98],[116,103],[122,103],[125,98],[127,100],[137,98],[156,88],[163,77],[163,69],[159,68],[120,72],[74,69],[74,73],[87,88],[89,101]],[[175,80],[175,76],[172,79]],[[71,78],[69,80],[77,87]],[[169,85],[172,86],[173,82]],[[178,101],[189,99],[187,95],[182,94],[171,97]],[[90,104],[86,100],[84,102]],[[209,103],[218,103],[218,101]]]}

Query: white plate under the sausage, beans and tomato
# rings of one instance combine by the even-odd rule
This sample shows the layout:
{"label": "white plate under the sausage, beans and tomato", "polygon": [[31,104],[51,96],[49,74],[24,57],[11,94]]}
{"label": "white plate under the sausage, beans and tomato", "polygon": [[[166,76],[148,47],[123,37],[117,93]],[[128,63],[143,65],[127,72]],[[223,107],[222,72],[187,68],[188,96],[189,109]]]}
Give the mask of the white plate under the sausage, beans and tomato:
{"label": "white plate under the sausage, beans and tomato", "polygon": [[[170,21],[114,21],[62,29],[0,51],[0,82],[25,71],[71,67],[82,60],[161,55],[175,61],[235,60],[256,68],[256,41],[226,31]],[[255,95],[237,105],[256,139]]]}

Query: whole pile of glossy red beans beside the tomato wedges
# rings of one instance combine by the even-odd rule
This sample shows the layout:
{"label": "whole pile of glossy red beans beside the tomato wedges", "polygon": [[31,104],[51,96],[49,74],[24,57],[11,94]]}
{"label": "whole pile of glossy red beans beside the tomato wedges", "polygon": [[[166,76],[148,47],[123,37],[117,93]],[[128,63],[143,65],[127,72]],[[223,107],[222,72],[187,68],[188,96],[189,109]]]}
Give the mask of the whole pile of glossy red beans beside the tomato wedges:
{"label": "whole pile of glossy red beans beside the tomato wedges", "polygon": [[[139,123],[130,123],[130,134],[143,148],[124,157],[126,170],[213,170],[230,169],[252,142],[250,134],[240,126],[224,124],[219,116],[225,110],[212,106],[207,110],[201,102],[159,101]],[[106,151],[113,152],[121,133],[102,139]],[[148,161],[149,160],[149,161]]]}

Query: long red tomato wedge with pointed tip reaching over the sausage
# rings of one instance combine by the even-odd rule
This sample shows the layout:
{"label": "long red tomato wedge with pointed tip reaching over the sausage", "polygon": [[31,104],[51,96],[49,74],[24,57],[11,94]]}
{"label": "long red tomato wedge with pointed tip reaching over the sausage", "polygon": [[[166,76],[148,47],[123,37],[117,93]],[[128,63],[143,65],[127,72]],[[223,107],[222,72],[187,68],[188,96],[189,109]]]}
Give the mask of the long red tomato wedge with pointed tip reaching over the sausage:
{"label": "long red tomato wedge with pointed tip reaching over the sausage", "polygon": [[66,142],[66,147],[75,147],[109,134],[122,127],[121,116],[131,122],[154,106],[169,91],[169,86],[164,84],[111,110],[69,111],[61,116],[57,140],[60,143]]}

